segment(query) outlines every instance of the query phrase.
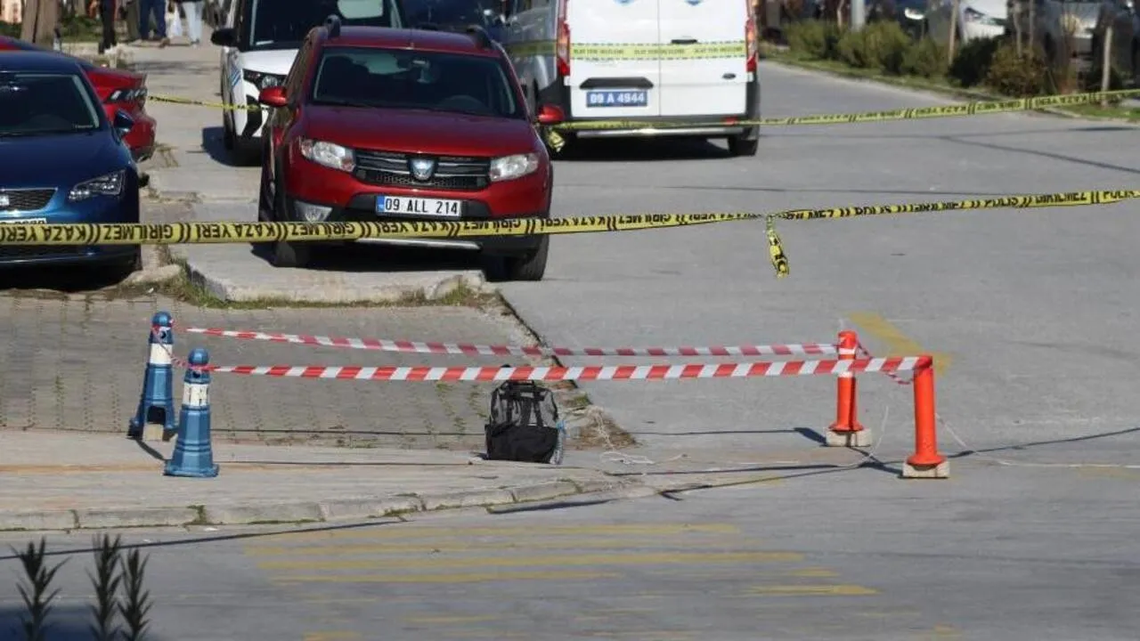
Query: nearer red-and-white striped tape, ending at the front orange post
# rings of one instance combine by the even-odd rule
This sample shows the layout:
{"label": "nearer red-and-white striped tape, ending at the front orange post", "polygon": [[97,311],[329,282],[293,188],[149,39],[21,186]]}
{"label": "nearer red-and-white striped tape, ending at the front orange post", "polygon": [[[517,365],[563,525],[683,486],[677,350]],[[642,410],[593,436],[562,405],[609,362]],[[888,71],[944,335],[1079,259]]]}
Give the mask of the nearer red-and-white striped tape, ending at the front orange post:
{"label": "nearer red-and-white striped tape, ending at the front orange post", "polygon": [[355,381],[645,381],[670,379],[744,379],[809,376],[845,372],[905,372],[929,367],[926,356],[857,360],[782,360],[708,365],[592,365],[584,367],[363,367],[291,365],[209,365],[226,374]]}

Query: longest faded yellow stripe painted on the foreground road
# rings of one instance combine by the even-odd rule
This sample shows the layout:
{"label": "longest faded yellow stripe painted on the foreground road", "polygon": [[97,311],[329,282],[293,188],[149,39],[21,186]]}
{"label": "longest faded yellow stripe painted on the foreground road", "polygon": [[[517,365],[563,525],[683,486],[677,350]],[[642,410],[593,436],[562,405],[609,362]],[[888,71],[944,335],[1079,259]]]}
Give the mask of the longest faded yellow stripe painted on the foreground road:
{"label": "longest faded yellow stripe painted on the foreground road", "polygon": [[261,561],[263,570],[351,570],[363,568],[529,568],[535,566],[656,566],[677,563],[747,563],[800,561],[799,552],[646,552],[618,554],[546,554],[534,557],[463,557],[425,559],[345,559],[337,561]]}

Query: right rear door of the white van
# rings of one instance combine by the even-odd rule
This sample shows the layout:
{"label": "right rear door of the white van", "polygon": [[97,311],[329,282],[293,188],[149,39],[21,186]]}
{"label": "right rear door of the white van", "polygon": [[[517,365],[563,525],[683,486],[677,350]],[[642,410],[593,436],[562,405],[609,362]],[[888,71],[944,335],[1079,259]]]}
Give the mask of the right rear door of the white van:
{"label": "right rear door of the white van", "polygon": [[747,0],[656,1],[663,50],[660,115],[743,114]]}

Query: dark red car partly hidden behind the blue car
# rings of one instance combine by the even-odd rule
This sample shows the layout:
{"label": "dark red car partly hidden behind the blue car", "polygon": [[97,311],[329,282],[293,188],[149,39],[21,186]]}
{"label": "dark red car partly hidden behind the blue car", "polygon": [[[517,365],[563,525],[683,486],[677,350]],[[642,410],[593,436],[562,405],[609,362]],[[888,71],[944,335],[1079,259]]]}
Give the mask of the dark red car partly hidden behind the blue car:
{"label": "dark red car partly hidden behind the blue car", "polygon": [[[41,51],[42,47],[36,47],[31,42],[0,35],[0,51]],[[85,60],[70,54],[59,54],[74,58],[83,68],[84,75],[95,86],[96,94],[103,100],[103,109],[107,114],[107,120],[114,121],[115,112],[123,109],[135,121],[130,132],[127,133],[127,145],[131,148],[131,155],[136,162],[145,161],[154,154],[154,140],[157,124],[154,119],[146,113],[146,74],[127,70],[100,67],[90,60]]]}

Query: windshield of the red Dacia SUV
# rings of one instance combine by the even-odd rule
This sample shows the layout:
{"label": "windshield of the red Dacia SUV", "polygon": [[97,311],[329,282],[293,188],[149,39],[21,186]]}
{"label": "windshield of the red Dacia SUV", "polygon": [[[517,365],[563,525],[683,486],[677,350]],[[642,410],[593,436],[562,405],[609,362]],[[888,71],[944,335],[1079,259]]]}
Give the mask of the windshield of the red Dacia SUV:
{"label": "windshield of the red Dacia SUV", "polygon": [[326,48],[315,104],[526,117],[498,58],[380,48]]}

